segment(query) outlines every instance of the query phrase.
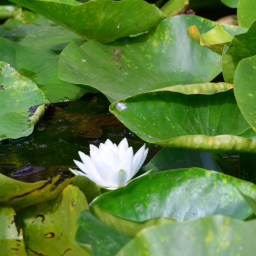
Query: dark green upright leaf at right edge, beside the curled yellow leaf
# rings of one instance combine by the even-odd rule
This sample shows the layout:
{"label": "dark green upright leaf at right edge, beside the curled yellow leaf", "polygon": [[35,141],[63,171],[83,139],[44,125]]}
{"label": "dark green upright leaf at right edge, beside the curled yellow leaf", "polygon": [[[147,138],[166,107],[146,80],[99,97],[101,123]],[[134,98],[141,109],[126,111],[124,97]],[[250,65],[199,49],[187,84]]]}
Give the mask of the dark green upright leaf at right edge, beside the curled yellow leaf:
{"label": "dark green upright leaf at right edge, beside the curled yellow leaf", "polygon": [[234,36],[222,56],[223,76],[226,82],[233,82],[234,73],[240,60],[256,55],[256,22],[246,33]]}

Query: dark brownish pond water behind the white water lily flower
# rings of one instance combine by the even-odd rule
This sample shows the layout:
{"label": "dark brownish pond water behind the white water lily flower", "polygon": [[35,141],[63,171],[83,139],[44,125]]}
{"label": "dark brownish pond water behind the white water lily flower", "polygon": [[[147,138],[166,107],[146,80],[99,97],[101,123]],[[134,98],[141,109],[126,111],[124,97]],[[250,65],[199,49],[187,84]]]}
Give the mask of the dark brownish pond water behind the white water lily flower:
{"label": "dark brownish pond water behind the white water lily flower", "polygon": [[[29,137],[0,143],[0,172],[27,182],[57,174],[71,176],[78,151],[89,154],[89,144],[106,139],[119,143],[124,137],[137,151],[144,143],[109,113],[109,101],[102,94],[86,94],[80,100],[49,105]],[[160,147],[148,144],[147,160]]]}

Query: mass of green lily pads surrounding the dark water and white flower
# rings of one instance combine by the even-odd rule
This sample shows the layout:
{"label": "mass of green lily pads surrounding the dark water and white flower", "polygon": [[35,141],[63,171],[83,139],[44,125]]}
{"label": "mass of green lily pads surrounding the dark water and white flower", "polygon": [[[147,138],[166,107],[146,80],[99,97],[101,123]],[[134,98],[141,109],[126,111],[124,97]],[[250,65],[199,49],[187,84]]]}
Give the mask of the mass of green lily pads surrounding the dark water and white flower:
{"label": "mass of green lily pads surrounding the dark water and white flower", "polygon": [[[0,6],[1,141],[30,135],[46,104],[100,92],[132,135],[164,148],[140,170],[151,174],[114,191],[0,174],[0,254],[253,255],[255,1],[12,2],[28,10]],[[240,26],[186,14],[223,4]],[[67,113],[81,133],[87,123]]]}

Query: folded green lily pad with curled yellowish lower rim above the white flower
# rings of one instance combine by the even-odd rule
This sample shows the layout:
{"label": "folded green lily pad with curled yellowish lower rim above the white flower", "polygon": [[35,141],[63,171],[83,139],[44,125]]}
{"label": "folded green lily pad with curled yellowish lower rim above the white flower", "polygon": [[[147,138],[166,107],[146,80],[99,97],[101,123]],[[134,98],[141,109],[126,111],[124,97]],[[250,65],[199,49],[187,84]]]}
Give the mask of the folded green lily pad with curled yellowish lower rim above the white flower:
{"label": "folded green lily pad with curled yellowish lower rim above the white flower", "polygon": [[142,93],[115,102],[110,112],[150,143],[210,152],[256,152],[256,141],[236,136],[250,126],[232,90],[211,95]]}

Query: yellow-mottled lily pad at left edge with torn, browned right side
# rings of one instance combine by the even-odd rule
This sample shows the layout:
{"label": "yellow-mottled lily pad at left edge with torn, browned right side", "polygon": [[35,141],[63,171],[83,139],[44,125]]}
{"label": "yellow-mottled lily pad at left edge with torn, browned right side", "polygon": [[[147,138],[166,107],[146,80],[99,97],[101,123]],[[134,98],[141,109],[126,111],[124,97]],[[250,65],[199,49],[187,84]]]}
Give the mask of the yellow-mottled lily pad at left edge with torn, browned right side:
{"label": "yellow-mottled lily pad at left edge with torn, browned right side", "polygon": [[30,135],[36,121],[44,113],[44,106],[37,113],[36,109],[39,105],[48,103],[47,98],[34,82],[2,61],[0,81],[0,141]]}

